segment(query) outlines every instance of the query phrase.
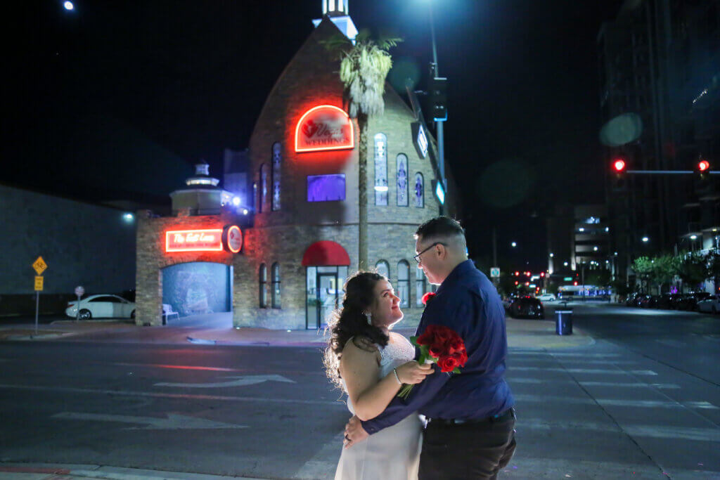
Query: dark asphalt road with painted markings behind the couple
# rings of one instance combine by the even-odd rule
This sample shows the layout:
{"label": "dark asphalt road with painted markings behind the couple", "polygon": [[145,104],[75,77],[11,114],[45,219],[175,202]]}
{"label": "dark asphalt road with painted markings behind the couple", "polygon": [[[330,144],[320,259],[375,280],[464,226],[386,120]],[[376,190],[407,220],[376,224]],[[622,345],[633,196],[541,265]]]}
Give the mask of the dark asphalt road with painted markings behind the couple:
{"label": "dark asphalt road with painted markings behind the couple", "polygon": [[[593,345],[510,350],[501,476],[720,478],[720,318],[575,313]],[[6,342],[0,372],[2,462],[325,479],[348,418],[317,348]]]}

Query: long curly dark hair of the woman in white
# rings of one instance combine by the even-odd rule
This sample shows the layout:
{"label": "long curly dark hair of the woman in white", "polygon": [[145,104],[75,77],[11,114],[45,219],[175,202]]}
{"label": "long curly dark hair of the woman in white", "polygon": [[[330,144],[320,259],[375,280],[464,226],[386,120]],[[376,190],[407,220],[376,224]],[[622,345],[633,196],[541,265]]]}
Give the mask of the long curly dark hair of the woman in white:
{"label": "long curly dark hair of the woman in white", "polygon": [[359,271],[351,276],[345,284],[343,307],[335,309],[328,321],[330,338],[323,354],[325,373],[328,379],[342,388],[340,379],[340,358],[345,344],[353,339],[359,348],[368,350],[372,345],[386,346],[390,337],[378,327],[368,325],[367,317],[363,312],[374,302],[375,284],[387,280],[379,273]]}

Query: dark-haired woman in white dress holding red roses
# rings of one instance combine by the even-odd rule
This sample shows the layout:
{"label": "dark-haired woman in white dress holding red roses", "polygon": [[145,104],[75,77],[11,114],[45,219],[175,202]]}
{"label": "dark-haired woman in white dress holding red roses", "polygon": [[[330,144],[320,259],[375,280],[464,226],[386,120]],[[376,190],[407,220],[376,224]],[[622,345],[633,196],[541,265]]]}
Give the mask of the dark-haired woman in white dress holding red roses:
{"label": "dark-haired woman in white dress holding red roses", "polygon": [[[356,273],[345,292],[342,309],[328,324],[325,368],[330,380],[347,392],[350,412],[369,420],[387,407],[402,384],[419,384],[433,369],[413,361],[413,345],[390,331],[403,314],[400,298],[384,276]],[[419,415],[410,415],[343,448],[335,479],[417,479],[422,430]]]}

